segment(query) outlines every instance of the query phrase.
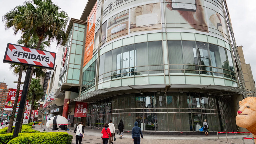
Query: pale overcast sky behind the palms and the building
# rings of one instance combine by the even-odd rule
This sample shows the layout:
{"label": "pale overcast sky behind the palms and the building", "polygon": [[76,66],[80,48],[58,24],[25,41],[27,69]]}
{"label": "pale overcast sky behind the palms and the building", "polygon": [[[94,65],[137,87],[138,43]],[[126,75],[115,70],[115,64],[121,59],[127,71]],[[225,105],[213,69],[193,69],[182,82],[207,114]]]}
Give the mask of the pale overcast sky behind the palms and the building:
{"label": "pale overcast sky behind the palms and the building", "polygon": [[[68,13],[69,17],[80,19],[87,0],[53,0],[55,4]],[[231,16],[231,22],[233,26],[234,36],[238,46],[243,46],[243,53],[247,64],[251,64],[251,69],[254,79],[256,79],[256,63],[255,62],[255,48],[256,48],[256,18],[255,9],[256,1],[253,0],[226,0],[229,13]],[[23,5],[22,0],[10,0],[1,1],[0,15],[3,16],[10,9],[13,9],[17,5]],[[2,17],[1,17],[2,21]],[[7,43],[16,44],[20,35],[14,36],[13,30],[5,30],[3,22],[0,22],[0,82],[4,81],[8,87],[16,88],[13,81],[18,81],[18,77],[12,74],[12,70],[9,70],[10,64],[3,63],[4,53]],[[52,52],[57,52],[55,44],[52,44],[50,49]],[[25,74],[23,74],[22,81],[24,81]]]}

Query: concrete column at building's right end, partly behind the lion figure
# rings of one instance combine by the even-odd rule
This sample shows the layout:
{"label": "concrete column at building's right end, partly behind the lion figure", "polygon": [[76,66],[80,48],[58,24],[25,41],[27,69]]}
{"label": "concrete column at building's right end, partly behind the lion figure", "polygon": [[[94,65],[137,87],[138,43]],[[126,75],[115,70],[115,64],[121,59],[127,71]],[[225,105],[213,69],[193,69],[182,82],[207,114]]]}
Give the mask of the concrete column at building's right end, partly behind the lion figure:
{"label": "concrete column at building's right end, partly behind the lion figure", "polygon": [[[248,132],[248,130],[246,128],[242,128],[236,125],[236,116],[237,116],[237,111],[239,109],[239,101],[243,100],[243,95],[232,95],[231,96],[231,112],[232,112],[232,117],[234,117],[234,121],[232,121],[233,125],[232,126],[236,126],[238,129],[238,132]],[[237,130],[236,129],[236,130]],[[245,133],[245,135],[247,135],[248,133]]]}

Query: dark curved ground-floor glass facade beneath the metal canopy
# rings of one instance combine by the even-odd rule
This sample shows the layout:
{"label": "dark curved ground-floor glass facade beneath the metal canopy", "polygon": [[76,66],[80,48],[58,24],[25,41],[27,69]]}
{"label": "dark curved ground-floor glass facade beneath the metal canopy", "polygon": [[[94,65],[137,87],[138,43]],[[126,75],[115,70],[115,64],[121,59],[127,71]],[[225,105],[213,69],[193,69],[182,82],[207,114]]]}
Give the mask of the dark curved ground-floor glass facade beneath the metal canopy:
{"label": "dark curved ground-floor glass facade beneath the metal canopy", "polygon": [[123,119],[125,130],[137,121],[143,131],[195,132],[204,119],[210,131],[232,130],[228,102],[199,92],[133,93],[88,104],[87,126],[103,127],[110,119],[115,125]]}

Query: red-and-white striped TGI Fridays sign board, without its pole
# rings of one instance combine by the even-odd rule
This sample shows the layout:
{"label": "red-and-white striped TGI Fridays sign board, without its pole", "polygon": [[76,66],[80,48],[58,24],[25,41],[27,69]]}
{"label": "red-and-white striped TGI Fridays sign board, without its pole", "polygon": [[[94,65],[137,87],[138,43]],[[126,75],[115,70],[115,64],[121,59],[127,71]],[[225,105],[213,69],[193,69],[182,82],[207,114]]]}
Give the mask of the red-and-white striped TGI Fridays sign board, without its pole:
{"label": "red-and-white striped TGI Fridays sign board, without its pole", "polygon": [[55,58],[53,52],[8,43],[3,62],[54,69]]}

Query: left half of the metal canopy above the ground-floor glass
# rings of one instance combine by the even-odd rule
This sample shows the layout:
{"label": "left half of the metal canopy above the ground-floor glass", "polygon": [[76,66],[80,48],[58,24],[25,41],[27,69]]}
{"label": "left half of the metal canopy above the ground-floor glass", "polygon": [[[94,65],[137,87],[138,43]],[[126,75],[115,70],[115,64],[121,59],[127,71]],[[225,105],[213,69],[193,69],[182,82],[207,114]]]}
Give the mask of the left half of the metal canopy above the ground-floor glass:
{"label": "left half of the metal canopy above the ground-floor glass", "polygon": [[147,91],[164,91],[166,84],[154,84],[154,85],[131,85],[110,87],[104,89],[98,89],[87,92],[86,94],[79,96],[72,101],[88,101],[93,102],[104,98],[111,97],[113,95],[127,94],[132,92],[147,92]]}

